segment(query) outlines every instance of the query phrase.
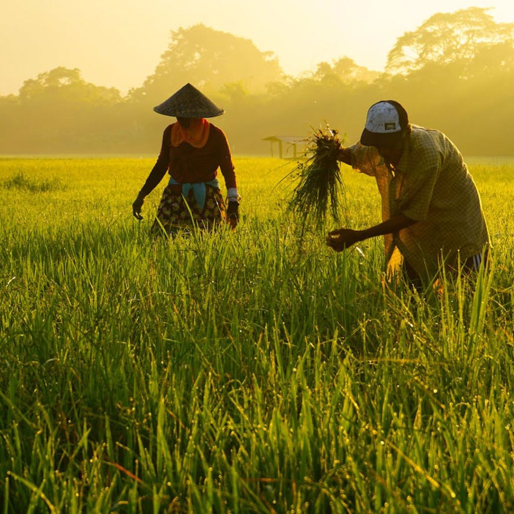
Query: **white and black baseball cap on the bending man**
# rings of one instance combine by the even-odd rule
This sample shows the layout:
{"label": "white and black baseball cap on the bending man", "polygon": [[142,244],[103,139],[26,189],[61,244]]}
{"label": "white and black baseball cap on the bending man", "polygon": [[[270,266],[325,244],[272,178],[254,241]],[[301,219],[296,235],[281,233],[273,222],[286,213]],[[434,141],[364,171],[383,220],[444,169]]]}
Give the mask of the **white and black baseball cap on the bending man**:
{"label": "white and black baseball cap on the bending man", "polygon": [[368,110],[366,125],[360,136],[366,146],[390,146],[409,125],[407,111],[395,100],[381,100]]}

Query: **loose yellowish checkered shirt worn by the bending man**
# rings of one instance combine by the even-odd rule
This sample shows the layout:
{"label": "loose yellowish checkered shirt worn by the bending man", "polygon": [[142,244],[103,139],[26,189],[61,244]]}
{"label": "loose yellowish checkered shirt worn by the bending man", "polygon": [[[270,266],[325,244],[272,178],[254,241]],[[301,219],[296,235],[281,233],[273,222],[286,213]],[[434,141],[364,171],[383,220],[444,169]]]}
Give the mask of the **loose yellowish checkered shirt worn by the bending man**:
{"label": "loose yellowish checkered shirt worn by the bending man", "polygon": [[382,221],[403,214],[417,223],[384,236],[390,269],[405,258],[422,276],[441,262],[456,266],[482,253],[489,233],[480,196],[461,153],[441,132],[413,125],[396,169],[374,146],[350,147],[352,166],[374,176],[382,198]]}

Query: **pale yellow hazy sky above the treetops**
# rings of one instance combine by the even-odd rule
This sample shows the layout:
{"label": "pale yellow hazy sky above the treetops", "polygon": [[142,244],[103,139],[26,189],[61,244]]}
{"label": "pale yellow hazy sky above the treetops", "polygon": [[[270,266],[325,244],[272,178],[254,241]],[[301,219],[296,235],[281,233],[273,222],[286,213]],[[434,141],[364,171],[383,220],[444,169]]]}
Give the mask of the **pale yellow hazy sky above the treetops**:
{"label": "pale yellow hazy sky above the treetops", "polygon": [[514,22],[514,0],[13,0],[0,11],[0,95],[57,66],[125,93],[152,74],[171,30],[197,23],[274,51],[288,74],[343,56],[382,70],[404,32],[470,6]]}

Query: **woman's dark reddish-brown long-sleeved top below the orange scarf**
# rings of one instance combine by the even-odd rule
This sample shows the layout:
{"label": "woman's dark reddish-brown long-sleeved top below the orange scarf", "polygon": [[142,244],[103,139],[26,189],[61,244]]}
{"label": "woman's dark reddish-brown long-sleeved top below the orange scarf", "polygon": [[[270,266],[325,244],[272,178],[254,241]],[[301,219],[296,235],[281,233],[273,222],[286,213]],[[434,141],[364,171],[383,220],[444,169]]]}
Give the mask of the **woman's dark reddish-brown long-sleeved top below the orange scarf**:
{"label": "woman's dark reddish-brown long-sleeved top below the orange scarf", "polygon": [[209,138],[205,145],[194,148],[186,142],[172,146],[172,126],[173,124],[164,129],[159,157],[140,194],[146,196],[153,191],[167,171],[178,183],[194,183],[214,180],[219,168],[225,178],[227,189],[237,187],[230,148],[221,128],[211,123]]}

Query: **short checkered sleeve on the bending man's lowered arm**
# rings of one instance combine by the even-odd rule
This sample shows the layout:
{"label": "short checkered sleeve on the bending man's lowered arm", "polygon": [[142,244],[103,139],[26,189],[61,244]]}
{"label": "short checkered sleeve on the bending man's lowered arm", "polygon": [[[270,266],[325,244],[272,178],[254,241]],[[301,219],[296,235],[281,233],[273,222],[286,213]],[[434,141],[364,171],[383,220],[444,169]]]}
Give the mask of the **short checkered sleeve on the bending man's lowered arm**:
{"label": "short checkered sleeve on the bending man's lowered arm", "polygon": [[403,183],[395,211],[420,222],[428,217],[442,166],[439,154],[432,148],[413,157],[410,168],[402,172]]}

